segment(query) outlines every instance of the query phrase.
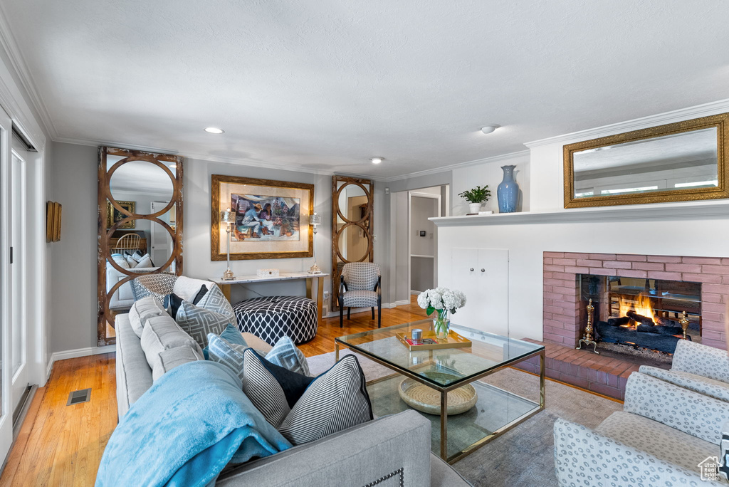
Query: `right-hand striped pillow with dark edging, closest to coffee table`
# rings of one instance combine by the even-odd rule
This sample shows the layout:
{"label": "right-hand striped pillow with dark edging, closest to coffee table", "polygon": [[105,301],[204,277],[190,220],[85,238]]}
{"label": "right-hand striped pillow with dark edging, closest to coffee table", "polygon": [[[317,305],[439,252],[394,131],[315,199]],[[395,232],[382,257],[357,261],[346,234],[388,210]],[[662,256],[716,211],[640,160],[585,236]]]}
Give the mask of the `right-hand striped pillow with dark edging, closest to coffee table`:
{"label": "right-hand striped pillow with dark edging, closest to coffee table", "polygon": [[301,445],[372,419],[362,367],[354,355],[347,355],[309,384],[276,429]]}

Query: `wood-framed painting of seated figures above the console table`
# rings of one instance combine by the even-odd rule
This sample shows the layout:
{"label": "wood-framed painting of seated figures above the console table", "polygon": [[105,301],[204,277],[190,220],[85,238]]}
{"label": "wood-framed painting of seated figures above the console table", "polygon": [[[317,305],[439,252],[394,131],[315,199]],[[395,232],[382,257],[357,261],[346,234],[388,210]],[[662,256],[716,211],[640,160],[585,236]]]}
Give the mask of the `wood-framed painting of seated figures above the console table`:
{"label": "wood-framed painting of seated figures above the console table", "polygon": [[226,260],[229,235],[220,212],[230,208],[230,259],[286,259],[313,256],[314,185],[213,174],[211,260]]}

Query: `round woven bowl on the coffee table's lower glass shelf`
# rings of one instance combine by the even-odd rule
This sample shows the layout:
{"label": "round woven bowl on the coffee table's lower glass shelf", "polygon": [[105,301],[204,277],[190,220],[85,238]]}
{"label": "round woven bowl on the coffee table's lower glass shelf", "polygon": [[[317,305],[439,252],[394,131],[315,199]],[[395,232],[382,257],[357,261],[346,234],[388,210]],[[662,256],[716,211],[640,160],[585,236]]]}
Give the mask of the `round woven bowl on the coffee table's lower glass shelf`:
{"label": "round woven bowl on the coffee table's lower glass shelf", "polygon": [[[452,374],[440,372],[429,372],[424,375],[435,379],[456,377]],[[435,389],[408,378],[400,383],[397,392],[410,408],[440,416],[440,392]],[[477,400],[476,389],[471,384],[453,389],[453,391],[448,392],[448,416],[465,413],[476,405]]]}

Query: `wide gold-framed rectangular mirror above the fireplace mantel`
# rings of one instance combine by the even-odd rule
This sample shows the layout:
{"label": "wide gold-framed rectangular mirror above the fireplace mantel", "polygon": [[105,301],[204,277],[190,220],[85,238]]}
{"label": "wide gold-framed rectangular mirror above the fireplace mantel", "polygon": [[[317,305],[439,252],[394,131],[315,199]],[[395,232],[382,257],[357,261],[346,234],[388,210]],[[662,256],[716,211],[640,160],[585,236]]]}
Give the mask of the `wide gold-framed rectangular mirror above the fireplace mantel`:
{"label": "wide gold-framed rectangular mirror above the fireplace mantel", "polygon": [[564,207],[729,198],[729,114],[564,146]]}

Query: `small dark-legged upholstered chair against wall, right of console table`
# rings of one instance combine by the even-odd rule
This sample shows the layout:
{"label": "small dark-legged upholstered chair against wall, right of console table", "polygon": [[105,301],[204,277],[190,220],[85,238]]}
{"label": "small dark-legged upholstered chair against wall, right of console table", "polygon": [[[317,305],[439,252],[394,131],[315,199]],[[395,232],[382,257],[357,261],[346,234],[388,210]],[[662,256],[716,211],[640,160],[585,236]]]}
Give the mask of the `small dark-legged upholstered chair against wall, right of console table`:
{"label": "small dark-legged upholstered chair against wall, right of console table", "polygon": [[377,327],[382,326],[382,276],[374,262],[348,262],[339,278],[339,327],[344,326],[344,308],[350,319],[351,308],[372,308]]}

